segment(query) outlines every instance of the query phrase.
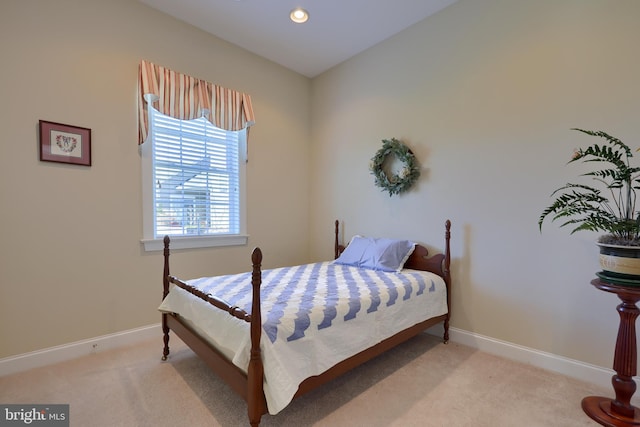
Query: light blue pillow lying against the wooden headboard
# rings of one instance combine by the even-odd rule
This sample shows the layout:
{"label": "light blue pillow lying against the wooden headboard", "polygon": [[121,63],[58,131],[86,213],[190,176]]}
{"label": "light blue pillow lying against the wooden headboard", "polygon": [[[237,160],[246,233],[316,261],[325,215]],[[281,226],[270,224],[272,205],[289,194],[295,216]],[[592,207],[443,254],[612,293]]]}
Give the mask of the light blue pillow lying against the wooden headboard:
{"label": "light blue pillow lying against the wooden headboard", "polygon": [[415,247],[416,244],[408,240],[354,236],[334,262],[372,270],[397,272],[402,270]]}

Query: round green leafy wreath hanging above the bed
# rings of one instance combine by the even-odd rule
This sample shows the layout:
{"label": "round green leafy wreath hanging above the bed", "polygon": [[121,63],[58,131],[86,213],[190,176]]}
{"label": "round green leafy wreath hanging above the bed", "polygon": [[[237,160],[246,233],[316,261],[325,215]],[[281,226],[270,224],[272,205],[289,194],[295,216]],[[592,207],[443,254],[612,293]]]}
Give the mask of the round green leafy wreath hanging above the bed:
{"label": "round green leafy wreath hanging above the bed", "polygon": [[[385,160],[394,155],[404,163],[404,167],[397,174],[387,175],[383,169]],[[371,159],[369,170],[375,176],[375,185],[388,191],[389,197],[407,191],[420,177],[420,167],[413,152],[395,138],[383,139],[382,148]]]}

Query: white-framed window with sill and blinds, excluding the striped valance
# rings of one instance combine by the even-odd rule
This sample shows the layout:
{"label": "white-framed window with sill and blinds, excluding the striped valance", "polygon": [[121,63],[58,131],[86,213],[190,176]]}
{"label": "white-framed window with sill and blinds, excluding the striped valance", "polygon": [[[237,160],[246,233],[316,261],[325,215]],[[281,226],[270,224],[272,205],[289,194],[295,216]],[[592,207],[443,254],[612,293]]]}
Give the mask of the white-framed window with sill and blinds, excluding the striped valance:
{"label": "white-framed window with sill and blinds, excluding the striped valance", "polygon": [[246,244],[246,130],[201,117],[180,120],[149,106],[142,145],[146,250]]}

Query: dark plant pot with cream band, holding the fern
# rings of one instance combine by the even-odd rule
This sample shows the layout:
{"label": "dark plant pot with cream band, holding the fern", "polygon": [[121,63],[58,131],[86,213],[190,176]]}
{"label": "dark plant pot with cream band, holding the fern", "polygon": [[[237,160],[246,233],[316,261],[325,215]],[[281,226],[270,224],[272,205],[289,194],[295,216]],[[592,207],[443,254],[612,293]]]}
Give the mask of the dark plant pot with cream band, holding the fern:
{"label": "dark plant pot with cream band, holding the fern", "polygon": [[[598,243],[603,279],[640,286],[640,246]],[[602,277],[604,276],[604,277]],[[637,282],[637,283],[636,283]]]}

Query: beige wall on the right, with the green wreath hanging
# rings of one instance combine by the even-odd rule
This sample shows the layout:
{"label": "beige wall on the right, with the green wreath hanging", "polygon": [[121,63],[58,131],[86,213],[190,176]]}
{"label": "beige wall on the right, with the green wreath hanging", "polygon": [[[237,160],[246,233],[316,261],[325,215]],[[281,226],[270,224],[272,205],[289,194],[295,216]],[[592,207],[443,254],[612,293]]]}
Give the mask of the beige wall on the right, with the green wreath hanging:
{"label": "beige wall on the right, with the green wreath hanging", "polygon": [[[596,235],[537,220],[581,169],[572,127],[640,144],[640,2],[460,0],[312,82],[312,258],[325,225],[442,249],[453,222],[456,328],[610,367],[613,295]],[[424,166],[389,197],[369,159],[396,137]],[[639,163],[640,164],[640,163]]]}

